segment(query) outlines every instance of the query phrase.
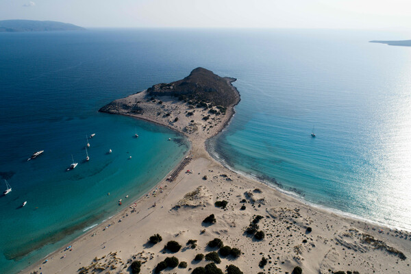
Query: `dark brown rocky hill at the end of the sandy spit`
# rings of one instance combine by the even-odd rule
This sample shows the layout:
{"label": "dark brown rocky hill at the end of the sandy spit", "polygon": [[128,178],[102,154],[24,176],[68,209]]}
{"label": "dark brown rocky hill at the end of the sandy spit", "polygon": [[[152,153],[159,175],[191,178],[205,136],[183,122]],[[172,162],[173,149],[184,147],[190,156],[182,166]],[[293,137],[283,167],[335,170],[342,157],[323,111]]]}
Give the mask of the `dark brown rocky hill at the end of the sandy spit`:
{"label": "dark brown rocky hill at the end of the sandy spit", "polygon": [[169,84],[156,84],[147,89],[150,96],[174,96],[195,103],[212,103],[225,108],[236,105],[238,92],[231,85],[235,78],[220,77],[207,69],[197,68],[184,79]]}

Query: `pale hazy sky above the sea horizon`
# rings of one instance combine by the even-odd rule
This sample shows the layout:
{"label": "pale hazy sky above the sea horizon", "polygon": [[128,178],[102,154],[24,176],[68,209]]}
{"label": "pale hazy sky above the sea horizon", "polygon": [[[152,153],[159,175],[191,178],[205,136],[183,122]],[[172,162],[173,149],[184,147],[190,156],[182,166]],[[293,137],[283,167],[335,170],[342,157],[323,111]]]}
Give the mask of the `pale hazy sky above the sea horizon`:
{"label": "pale hazy sky above the sea horizon", "polygon": [[408,28],[411,0],[0,0],[0,20],[83,27]]}

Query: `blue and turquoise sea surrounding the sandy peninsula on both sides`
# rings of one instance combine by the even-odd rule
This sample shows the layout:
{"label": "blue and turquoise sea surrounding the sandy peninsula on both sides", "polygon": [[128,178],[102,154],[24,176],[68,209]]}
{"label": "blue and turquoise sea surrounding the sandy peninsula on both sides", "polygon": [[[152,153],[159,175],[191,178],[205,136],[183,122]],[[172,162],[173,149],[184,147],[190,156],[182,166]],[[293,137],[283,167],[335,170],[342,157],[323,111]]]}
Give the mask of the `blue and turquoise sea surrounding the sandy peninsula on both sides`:
{"label": "blue and turquoise sea surrounding the sandy peninsula on both sides", "polygon": [[[410,36],[298,29],[0,34],[0,177],[12,186],[0,197],[0,272],[15,273],[69,244],[120,210],[118,199],[131,202],[173,169],[188,150],[182,136],[97,110],[197,66],[236,77],[241,95],[232,123],[210,142],[214,157],[317,206],[411,230],[411,47],[368,42]],[[27,162],[38,150],[45,153]],[[79,165],[66,172],[72,154]]]}

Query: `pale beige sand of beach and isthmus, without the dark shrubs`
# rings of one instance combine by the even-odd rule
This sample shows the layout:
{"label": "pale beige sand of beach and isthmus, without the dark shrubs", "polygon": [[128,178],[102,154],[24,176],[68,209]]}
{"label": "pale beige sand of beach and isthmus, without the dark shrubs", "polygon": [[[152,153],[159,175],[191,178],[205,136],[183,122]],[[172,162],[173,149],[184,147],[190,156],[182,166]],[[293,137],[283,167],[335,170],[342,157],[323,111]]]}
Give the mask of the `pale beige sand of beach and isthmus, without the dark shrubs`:
{"label": "pale beige sand of beach and isthmus, without the dark shrubs", "polygon": [[[157,187],[161,186],[164,192],[158,191],[156,197],[150,195],[136,201],[136,212],[132,213],[130,208],[123,210],[71,243],[73,251],[64,251],[62,247],[45,258],[47,263],[43,264],[42,260],[23,273],[79,273],[82,267],[86,268],[83,273],[99,273],[96,270],[99,268],[104,269],[102,273],[129,273],[128,266],[135,258],[143,262],[141,273],[153,273],[155,265],[167,256],[187,262],[188,268],[166,269],[162,273],[191,273],[190,268],[208,264],[204,260],[193,262],[193,259],[197,253],[214,250],[206,247],[213,238],[220,238],[225,245],[242,251],[240,258],[221,259],[218,266],[223,271],[225,266],[234,264],[243,273],[291,273],[295,266],[301,266],[303,273],[411,273],[408,232],[390,232],[385,227],[313,208],[265,184],[229,171],[210,158],[204,142],[221,131],[233,114],[232,108],[225,116],[210,119],[212,123],[209,124],[202,120],[208,115],[206,111],[196,108],[195,115],[186,116],[189,109],[182,102],[162,98],[160,105],[147,102],[145,96],[142,92],[118,101],[145,101],[140,103],[145,113],[136,114],[136,117],[184,132],[192,143],[190,155],[193,158],[184,171],[189,169],[192,173],[182,171],[175,182],[160,182]],[[162,114],[157,115],[158,112]],[[121,110],[119,113],[129,115]],[[171,115],[163,117],[165,113]],[[175,117],[178,121],[174,123]],[[191,120],[195,122],[191,123]],[[189,124],[191,129],[197,126],[197,131],[187,130]],[[203,130],[204,125],[207,128]],[[208,179],[203,179],[204,175]],[[184,198],[197,188],[197,195]],[[256,188],[260,191],[255,191]],[[245,210],[240,210],[242,199],[247,200]],[[214,206],[218,200],[228,201],[225,210]],[[175,208],[177,205],[178,209]],[[215,215],[216,223],[204,226],[202,221],[210,214]],[[264,240],[245,234],[255,214],[264,216],[258,224],[265,233]],[[307,233],[307,227],[312,227],[312,232]],[[381,228],[384,232],[379,233]],[[201,233],[203,229],[205,232]],[[157,233],[162,236],[162,242],[153,246],[147,244],[149,237]],[[369,236],[364,235],[379,240],[378,248]],[[189,239],[198,240],[195,249],[186,246]],[[162,253],[169,240],[179,242],[182,250],[175,254]],[[402,252],[406,260],[401,260],[397,251]],[[269,262],[260,269],[258,263],[263,256]]]}

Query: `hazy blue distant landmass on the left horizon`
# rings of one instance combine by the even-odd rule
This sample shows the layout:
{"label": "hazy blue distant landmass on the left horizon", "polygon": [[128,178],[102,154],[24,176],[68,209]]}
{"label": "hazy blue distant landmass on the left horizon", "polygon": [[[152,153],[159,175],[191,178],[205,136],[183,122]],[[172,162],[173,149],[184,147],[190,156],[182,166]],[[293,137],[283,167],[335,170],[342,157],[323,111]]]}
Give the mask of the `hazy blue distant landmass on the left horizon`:
{"label": "hazy blue distant landmass on the left horizon", "polygon": [[66,30],[84,30],[84,27],[56,21],[3,20],[0,32],[56,32]]}

